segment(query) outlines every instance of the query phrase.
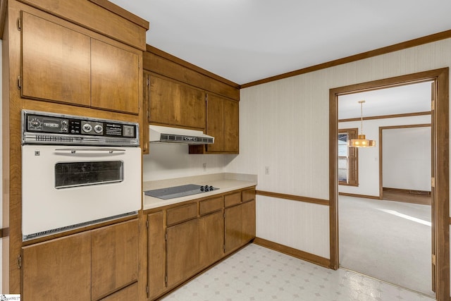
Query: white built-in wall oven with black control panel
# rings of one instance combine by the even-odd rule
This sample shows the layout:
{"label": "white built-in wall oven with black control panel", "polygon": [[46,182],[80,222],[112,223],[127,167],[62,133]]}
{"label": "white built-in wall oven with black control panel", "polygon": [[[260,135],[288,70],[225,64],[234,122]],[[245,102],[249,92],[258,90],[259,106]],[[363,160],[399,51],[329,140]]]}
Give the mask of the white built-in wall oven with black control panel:
{"label": "white built-in wall oven with black control panel", "polygon": [[22,112],[23,240],[135,215],[137,123]]}

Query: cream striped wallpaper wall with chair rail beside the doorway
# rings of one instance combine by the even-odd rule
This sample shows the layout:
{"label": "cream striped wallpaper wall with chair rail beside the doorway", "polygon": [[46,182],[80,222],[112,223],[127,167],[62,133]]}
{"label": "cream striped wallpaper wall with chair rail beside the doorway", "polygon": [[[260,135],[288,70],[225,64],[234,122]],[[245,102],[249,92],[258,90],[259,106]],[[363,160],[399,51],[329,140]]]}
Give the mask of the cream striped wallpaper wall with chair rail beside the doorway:
{"label": "cream striped wallpaper wall with chair rail beside the doorway", "polygon": [[[328,199],[329,89],[448,67],[450,53],[445,39],[242,89],[240,155],[225,170],[256,173],[258,190]],[[257,197],[260,238],[329,258],[328,223],[316,223],[327,219],[328,207]]]}

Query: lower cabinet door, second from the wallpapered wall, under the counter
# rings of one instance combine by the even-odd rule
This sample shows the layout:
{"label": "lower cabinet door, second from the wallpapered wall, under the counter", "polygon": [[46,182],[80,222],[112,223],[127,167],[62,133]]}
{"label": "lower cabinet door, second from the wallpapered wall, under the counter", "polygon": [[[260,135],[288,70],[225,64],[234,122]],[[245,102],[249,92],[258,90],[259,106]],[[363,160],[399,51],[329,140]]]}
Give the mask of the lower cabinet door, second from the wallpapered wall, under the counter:
{"label": "lower cabinet door, second from the wallpapered wall, under the counter", "polygon": [[228,253],[242,245],[241,204],[224,209],[224,215],[224,252]]}

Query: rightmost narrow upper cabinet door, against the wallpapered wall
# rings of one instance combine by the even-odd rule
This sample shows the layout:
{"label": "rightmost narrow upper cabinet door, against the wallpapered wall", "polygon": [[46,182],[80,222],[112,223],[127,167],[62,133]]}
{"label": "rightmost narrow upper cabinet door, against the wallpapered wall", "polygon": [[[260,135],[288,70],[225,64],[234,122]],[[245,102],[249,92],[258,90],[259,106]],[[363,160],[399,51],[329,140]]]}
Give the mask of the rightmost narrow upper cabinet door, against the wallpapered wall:
{"label": "rightmost narrow upper cabinet door, against the wallpapered wall", "polygon": [[239,102],[224,99],[224,142],[223,152],[240,151],[240,135],[239,135]]}

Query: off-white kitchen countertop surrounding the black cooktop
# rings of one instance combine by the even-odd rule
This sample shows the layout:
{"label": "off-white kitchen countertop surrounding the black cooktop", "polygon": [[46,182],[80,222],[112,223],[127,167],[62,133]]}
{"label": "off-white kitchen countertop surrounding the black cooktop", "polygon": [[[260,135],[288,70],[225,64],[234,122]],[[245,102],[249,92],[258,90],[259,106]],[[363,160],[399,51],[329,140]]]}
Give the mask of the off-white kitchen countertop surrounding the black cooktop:
{"label": "off-white kitchen countertop surrounding the black cooktop", "polygon": [[[158,197],[149,197],[144,195],[144,191],[155,190],[160,188],[168,188],[178,185],[195,184],[195,185],[211,185],[218,190],[202,192],[197,195],[188,195],[186,197],[177,197],[175,199],[159,199]],[[185,178],[173,178],[166,180],[154,180],[144,182],[142,185],[143,206],[142,209],[154,209],[170,204],[190,201],[191,199],[199,199],[201,197],[209,197],[224,192],[248,188],[257,185],[256,175],[247,175],[241,173],[214,173],[202,176],[192,176]]]}

